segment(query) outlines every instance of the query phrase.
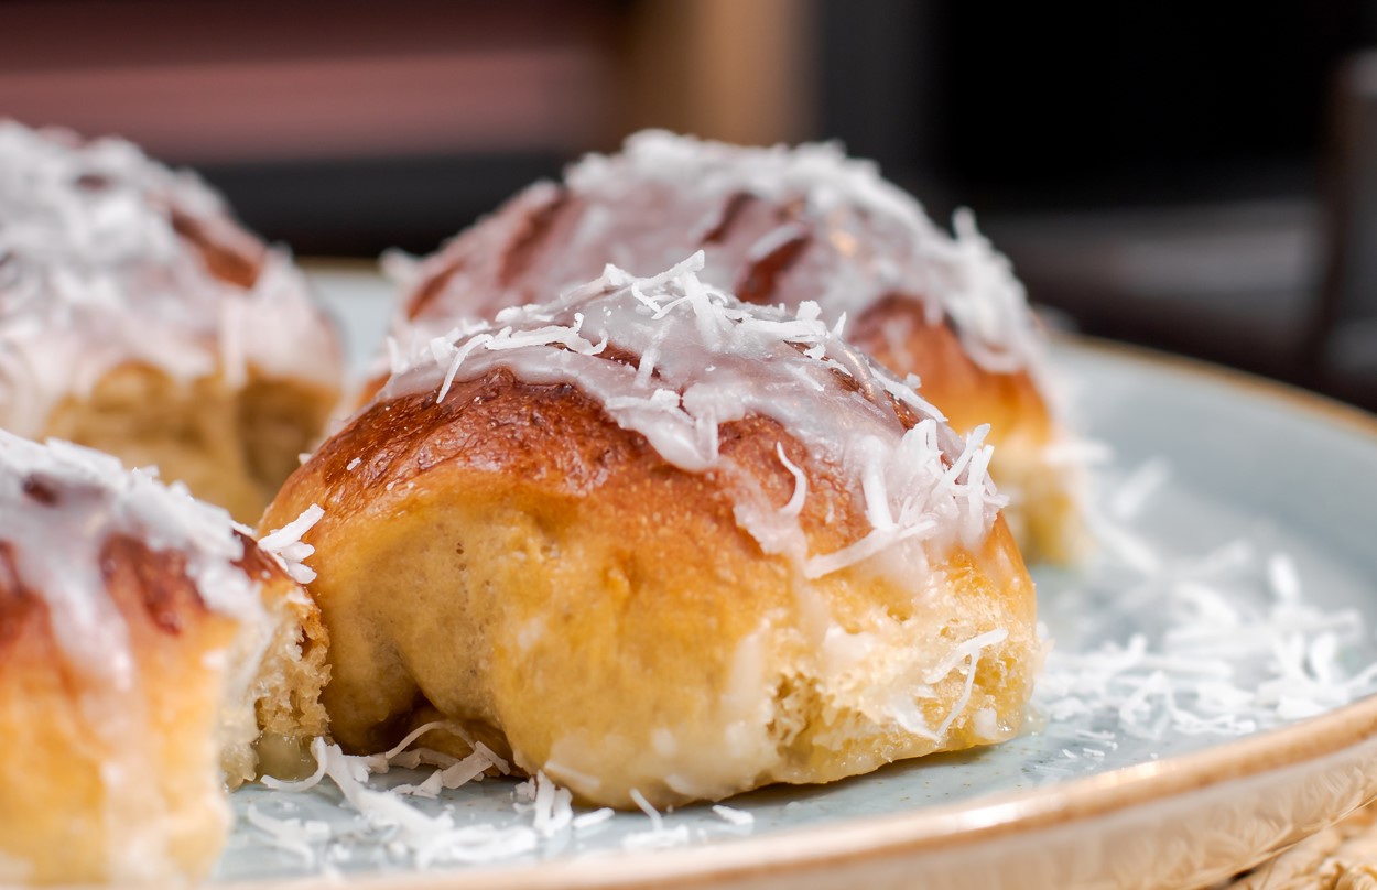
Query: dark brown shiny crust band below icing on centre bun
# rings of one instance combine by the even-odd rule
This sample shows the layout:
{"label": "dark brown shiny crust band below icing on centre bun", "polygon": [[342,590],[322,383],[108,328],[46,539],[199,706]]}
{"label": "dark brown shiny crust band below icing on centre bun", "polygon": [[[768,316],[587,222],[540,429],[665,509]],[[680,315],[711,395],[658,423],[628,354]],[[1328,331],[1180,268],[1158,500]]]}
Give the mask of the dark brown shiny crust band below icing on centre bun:
{"label": "dark brown shiny crust band below icing on centre bun", "polygon": [[[917,422],[906,406],[895,409],[909,427]],[[464,473],[522,479],[551,499],[598,497],[606,508],[624,511],[628,522],[639,522],[653,500],[717,517],[731,528],[744,486],[764,503],[789,501],[797,479],[779,460],[782,449],[808,478],[799,518],[814,548],[840,550],[870,530],[851,481],[810,456],[778,422],[750,416],[724,423],[719,449],[730,473],[684,471],[578,387],[527,383],[497,368],[456,383],[441,404],[424,391],[369,405],[288,481],[264,528],[311,503],[325,510],[317,533],[364,518],[386,522],[395,504],[431,489],[431,474]],[[651,495],[654,489],[673,495]],[[756,548],[744,530],[737,533]]]}

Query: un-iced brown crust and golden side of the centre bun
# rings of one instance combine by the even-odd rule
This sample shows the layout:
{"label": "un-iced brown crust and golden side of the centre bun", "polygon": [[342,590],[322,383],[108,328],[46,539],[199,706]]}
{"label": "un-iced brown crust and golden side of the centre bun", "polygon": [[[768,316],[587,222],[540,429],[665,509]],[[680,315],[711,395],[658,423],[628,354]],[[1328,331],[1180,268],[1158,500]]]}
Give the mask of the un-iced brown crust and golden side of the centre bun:
{"label": "un-iced brown crust and golden side of the centre bun", "polygon": [[724,424],[723,468],[693,474],[569,386],[496,372],[439,406],[375,404],[264,519],[325,507],[306,540],[335,738],[376,752],[443,716],[456,733],[423,744],[463,754],[467,736],[628,807],[633,789],[722,799],[1015,734],[1040,643],[1005,525],[928,568],[808,580],[734,513],[742,486],[789,500],[779,442],[810,477],[810,548],[865,535],[852,486],[766,419]]}

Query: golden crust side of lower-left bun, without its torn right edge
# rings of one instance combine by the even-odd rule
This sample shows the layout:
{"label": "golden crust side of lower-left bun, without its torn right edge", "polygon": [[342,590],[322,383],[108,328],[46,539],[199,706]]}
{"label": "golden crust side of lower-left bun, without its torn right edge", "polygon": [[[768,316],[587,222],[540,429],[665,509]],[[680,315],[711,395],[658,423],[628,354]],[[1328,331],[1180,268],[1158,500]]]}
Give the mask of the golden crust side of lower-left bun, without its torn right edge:
{"label": "golden crust side of lower-left bun, without its torn right edge", "polygon": [[[223,693],[205,656],[231,643],[237,623],[205,608],[185,569],[179,554],[132,537],[105,543],[101,570],[135,653],[136,683],[117,690],[72,667],[45,601],[21,584],[14,548],[0,541],[0,737],[10,748],[0,858],[28,862],[33,883],[138,878],[139,868],[197,878],[219,854]],[[112,769],[114,788],[103,777]],[[147,862],[131,865],[131,850]]]}

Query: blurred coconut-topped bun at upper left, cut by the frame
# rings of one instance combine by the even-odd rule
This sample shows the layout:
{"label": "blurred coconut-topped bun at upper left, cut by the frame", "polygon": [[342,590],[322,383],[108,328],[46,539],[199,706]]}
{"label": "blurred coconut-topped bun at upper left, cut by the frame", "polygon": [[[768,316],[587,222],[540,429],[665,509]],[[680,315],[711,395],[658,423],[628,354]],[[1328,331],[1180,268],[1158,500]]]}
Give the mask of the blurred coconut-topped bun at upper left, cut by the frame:
{"label": "blurred coconut-topped bun at upper left, cut by the frame", "polygon": [[340,375],[291,258],[196,176],[0,120],[0,428],[157,466],[256,522]]}

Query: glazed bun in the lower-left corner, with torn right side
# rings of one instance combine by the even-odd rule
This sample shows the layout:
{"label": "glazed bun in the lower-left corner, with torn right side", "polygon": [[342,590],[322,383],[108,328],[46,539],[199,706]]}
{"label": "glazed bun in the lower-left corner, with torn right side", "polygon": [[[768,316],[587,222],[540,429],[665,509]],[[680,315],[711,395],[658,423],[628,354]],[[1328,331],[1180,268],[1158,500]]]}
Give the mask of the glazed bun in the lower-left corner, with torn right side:
{"label": "glazed bun in the lower-left corner, with torn right side", "polygon": [[209,871],[260,723],[325,727],[289,568],[185,489],[0,431],[0,883]]}

